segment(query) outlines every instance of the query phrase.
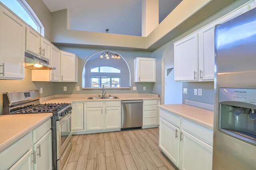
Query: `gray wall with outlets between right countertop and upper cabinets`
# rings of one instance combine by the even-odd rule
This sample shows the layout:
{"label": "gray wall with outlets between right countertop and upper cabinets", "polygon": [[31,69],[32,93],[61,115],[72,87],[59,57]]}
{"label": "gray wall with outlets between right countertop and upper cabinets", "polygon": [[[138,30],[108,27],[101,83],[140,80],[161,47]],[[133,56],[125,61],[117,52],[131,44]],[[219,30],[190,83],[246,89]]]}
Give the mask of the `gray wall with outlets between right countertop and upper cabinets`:
{"label": "gray wall with outlets between right countertop and upper cabinets", "polygon": [[[188,88],[188,94],[183,94],[182,103],[185,99],[202,103],[214,103],[214,82],[183,82],[183,88]],[[194,95],[194,89],[202,89],[202,96]]]}

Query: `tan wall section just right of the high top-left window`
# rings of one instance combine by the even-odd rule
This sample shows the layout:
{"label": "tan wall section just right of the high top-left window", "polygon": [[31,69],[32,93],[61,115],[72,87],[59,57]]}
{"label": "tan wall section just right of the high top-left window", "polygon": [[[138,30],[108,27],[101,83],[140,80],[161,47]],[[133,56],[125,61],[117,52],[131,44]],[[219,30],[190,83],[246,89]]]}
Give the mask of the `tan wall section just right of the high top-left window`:
{"label": "tan wall section just right of the high top-left window", "polygon": [[44,37],[51,40],[51,12],[42,0],[26,0],[44,26]]}

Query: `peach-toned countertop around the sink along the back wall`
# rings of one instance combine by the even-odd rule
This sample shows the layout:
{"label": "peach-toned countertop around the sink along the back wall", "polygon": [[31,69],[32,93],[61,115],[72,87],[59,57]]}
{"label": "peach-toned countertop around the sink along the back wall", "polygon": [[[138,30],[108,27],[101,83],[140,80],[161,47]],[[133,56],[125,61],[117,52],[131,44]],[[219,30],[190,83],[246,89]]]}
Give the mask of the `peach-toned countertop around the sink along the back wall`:
{"label": "peach-toned countertop around the sink along the back wall", "polygon": [[[106,94],[105,97],[108,97]],[[98,94],[79,94],[79,95],[56,95],[53,99],[40,99],[40,103],[72,103],[84,101],[121,101],[121,100],[152,100],[160,99],[156,94],[151,93],[130,93],[130,94],[111,94],[112,97],[117,96],[119,99],[88,99],[88,97],[98,97]]]}

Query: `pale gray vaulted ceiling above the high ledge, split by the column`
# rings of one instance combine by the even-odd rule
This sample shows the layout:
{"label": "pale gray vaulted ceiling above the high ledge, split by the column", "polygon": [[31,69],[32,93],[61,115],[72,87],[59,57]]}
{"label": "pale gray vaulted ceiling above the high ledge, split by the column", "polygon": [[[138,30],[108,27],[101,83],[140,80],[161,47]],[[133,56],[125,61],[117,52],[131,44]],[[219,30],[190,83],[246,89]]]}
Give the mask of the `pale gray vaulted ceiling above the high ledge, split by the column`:
{"label": "pale gray vaulted ceiling above the high ledge, split by the column", "polygon": [[[182,0],[159,0],[162,22]],[[51,12],[68,9],[72,30],[141,36],[141,0],[43,0]]]}

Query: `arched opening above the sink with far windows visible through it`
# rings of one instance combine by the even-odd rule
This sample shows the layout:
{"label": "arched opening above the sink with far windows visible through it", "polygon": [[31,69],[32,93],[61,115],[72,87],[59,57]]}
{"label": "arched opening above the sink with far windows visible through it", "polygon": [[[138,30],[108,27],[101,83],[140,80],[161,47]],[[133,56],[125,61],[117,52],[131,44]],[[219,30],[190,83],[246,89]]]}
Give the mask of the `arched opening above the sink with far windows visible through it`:
{"label": "arched opening above the sink with far windows visible through it", "polygon": [[103,85],[106,88],[130,87],[130,69],[126,61],[120,55],[118,55],[120,58],[100,57],[102,52],[104,51],[93,54],[84,64],[82,87],[101,88]]}

